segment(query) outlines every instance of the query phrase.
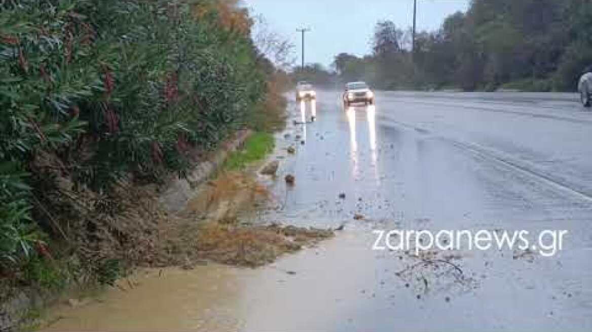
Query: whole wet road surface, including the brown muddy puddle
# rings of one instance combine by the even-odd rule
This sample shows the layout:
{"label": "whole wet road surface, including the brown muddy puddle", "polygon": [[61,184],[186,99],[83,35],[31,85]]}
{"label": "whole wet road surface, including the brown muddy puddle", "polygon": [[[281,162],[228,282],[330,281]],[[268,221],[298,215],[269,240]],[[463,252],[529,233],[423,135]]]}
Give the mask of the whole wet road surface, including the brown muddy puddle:
{"label": "whole wet road surface, including the brown muddy puddle", "polygon": [[[289,107],[256,222],[345,230],[265,268],[152,271],[49,330],[592,328],[592,112],[520,93],[378,92],[376,106],[344,109],[326,91]],[[391,229],[568,233],[551,257],[372,250],[373,231]]]}

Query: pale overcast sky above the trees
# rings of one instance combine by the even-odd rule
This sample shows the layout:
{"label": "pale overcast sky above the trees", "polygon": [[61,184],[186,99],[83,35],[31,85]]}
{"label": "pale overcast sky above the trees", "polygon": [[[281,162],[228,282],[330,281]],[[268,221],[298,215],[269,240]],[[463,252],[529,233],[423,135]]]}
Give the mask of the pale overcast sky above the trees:
{"label": "pale overcast sky above the trees", "polygon": [[[378,20],[390,19],[397,27],[413,25],[413,0],[243,0],[253,14],[262,14],[268,24],[295,45],[300,63],[301,36],[306,34],[305,60],[329,66],[340,52],[363,56]],[[417,29],[436,30],[443,19],[466,11],[469,0],[417,0]]]}

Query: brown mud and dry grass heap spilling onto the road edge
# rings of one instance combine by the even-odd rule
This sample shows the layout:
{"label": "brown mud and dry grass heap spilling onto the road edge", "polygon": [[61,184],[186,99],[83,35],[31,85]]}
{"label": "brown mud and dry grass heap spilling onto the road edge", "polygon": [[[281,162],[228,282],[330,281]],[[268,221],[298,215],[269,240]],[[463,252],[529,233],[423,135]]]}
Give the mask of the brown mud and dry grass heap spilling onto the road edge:
{"label": "brown mud and dry grass heap spilling onto the road edge", "polygon": [[330,229],[247,221],[268,199],[268,190],[251,172],[219,174],[181,214],[160,225],[150,267],[191,269],[209,261],[254,268],[333,237]]}

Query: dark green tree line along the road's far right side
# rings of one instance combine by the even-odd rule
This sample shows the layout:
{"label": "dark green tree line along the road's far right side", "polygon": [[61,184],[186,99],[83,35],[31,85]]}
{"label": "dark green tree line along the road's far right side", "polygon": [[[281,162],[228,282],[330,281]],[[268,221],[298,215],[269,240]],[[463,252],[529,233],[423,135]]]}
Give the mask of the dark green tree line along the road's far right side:
{"label": "dark green tree line along the road's far right side", "polygon": [[333,67],[379,89],[571,91],[592,64],[592,1],[472,0],[411,44],[409,30],[379,21],[372,54],[341,53]]}

